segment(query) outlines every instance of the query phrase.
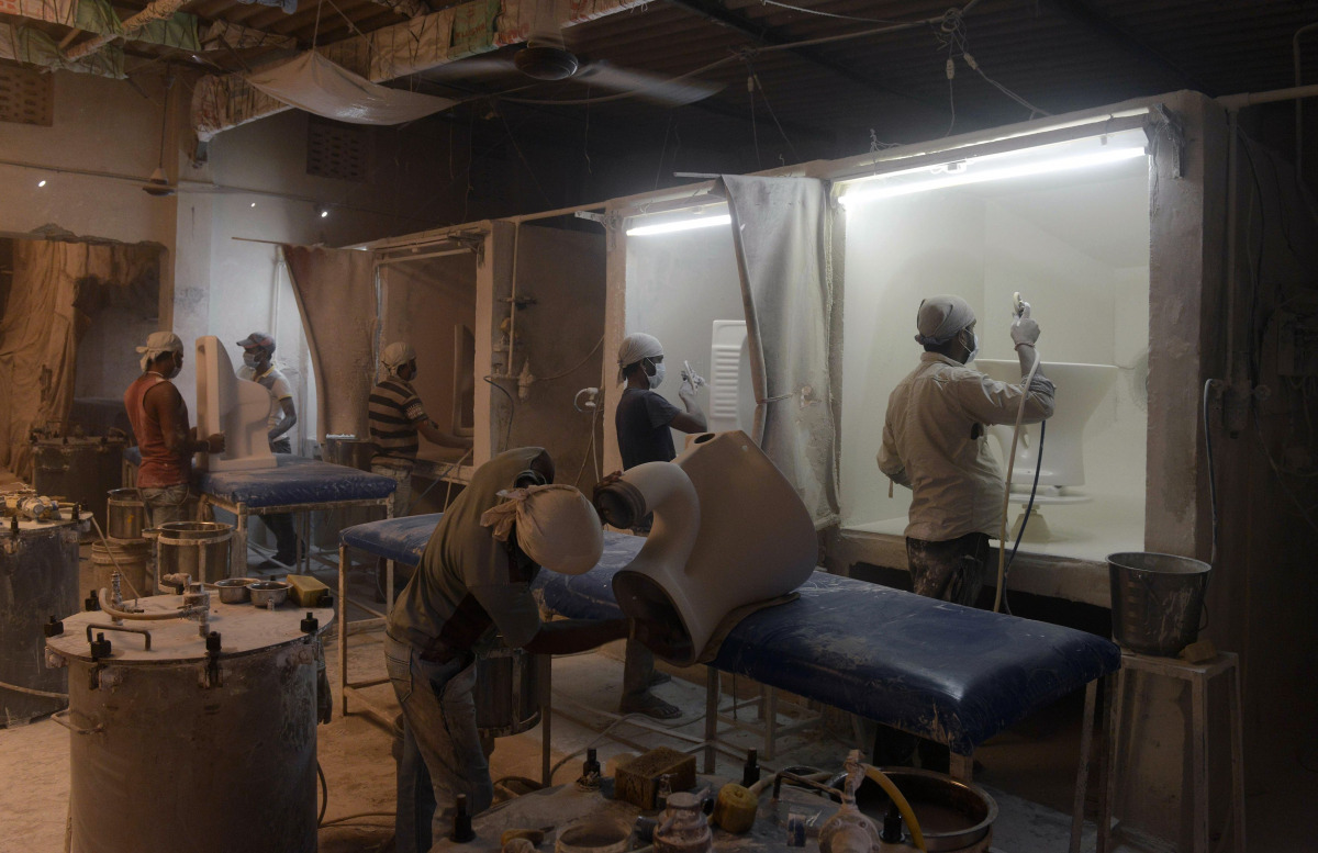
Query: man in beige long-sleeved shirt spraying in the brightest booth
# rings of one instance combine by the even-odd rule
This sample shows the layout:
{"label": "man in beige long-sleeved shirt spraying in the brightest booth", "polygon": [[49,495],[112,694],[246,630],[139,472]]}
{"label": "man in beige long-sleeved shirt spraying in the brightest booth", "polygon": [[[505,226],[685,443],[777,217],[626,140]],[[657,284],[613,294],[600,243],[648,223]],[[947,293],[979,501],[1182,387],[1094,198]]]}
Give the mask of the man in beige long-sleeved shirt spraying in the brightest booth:
{"label": "man in beige long-sleeved shirt spraying in the brightest booth", "polygon": [[[974,311],[960,296],[921,301],[916,329],[924,354],[888,396],[879,470],[913,492],[905,537],[915,591],[973,607],[983,586],[988,538],[999,536],[1006,490],[988,450],[987,426],[1050,417],[1053,383],[1037,371],[1039,323],[1029,317],[1028,305],[1021,304],[1011,324],[1023,378],[1019,386],[966,366],[979,340]],[[915,741],[880,727],[875,763],[909,765]],[[945,746],[921,741],[920,753],[927,769],[948,770]]]}

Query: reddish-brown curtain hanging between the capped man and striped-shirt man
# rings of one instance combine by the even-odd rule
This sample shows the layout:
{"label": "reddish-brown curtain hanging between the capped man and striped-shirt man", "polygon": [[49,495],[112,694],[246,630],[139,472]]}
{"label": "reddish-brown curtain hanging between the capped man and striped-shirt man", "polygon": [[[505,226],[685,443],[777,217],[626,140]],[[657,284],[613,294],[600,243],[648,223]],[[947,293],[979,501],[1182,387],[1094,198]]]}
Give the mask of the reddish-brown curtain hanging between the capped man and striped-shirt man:
{"label": "reddish-brown curtain hanging between the capped man and striped-shirt man", "polygon": [[283,246],[316,371],[316,425],[326,436],[369,437],[366,400],[376,380],[374,254]]}

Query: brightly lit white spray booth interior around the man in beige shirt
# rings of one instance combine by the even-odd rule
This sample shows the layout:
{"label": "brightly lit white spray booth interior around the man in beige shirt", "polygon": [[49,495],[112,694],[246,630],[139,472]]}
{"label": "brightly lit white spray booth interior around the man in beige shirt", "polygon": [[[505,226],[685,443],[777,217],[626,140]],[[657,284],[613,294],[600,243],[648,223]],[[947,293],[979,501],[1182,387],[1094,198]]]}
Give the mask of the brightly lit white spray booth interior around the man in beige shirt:
{"label": "brightly lit white spray booth interior around the man in beige shirt", "polygon": [[[888,395],[915,369],[920,300],[965,297],[985,373],[1020,380],[1012,294],[1032,305],[1043,371],[1057,383],[1040,500],[1021,550],[1102,559],[1144,545],[1149,167],[1140,132],[1024,149],[851,183],[842,353],[842,527],[902,536],[911,492],[875,457]],[[1049,365],[1057,365],[1049,367]],[[1006,441],[990,440],[1006,471]],[[1012,477],[1029,492],[1039,430]],[[1081,471],[1081,463],[1083,470]],[[1033,533],[1033,536],[1031,536]],[[1044,541],[1036,541],[1044,540]]]}

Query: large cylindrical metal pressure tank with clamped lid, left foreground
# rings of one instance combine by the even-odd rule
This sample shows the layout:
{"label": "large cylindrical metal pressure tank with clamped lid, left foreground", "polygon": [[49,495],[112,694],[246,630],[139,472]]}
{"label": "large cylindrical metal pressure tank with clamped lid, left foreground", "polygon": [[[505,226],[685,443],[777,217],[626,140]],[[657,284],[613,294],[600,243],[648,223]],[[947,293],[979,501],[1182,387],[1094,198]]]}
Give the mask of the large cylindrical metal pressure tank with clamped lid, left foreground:
{"label": "large cylindrical metal pressure tank with clamped lid, left foreground", "polygon": [[[138,606],[175,613],[192,595]],[[69,667],[74,853],[315,853],[316,661],[333,609],[204,608],[204,624],[76,613],[46,641]]]}

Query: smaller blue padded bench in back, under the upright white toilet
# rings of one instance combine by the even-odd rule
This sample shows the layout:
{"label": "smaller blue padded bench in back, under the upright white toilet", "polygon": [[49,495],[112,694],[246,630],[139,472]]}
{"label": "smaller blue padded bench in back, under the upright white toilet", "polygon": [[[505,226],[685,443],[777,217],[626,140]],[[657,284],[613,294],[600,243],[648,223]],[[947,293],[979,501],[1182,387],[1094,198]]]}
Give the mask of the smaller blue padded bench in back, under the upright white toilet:
{"label": "smaller blue padded bench in back, under the upright white toilet", "polygon": [[[202,502],[236,516],[231,577],[241,578],[246,574],[248,516],[310,513],[339,507],[384,507],[385,515],[389,515],[390,498],[397,487],[391,477],[289,453],[275,453],[274,459],[277,465],[272,469],[192,473],[192,488],[202,496]],[[140,466],[141,450],[124,450],[124,462]],[[302,521],[302,541],[306,542],[310,538],[310,515],[303,515]],[[299,554],[299,566],[303,561],[310,570],[310,554]]]}

